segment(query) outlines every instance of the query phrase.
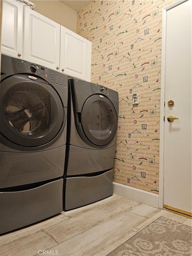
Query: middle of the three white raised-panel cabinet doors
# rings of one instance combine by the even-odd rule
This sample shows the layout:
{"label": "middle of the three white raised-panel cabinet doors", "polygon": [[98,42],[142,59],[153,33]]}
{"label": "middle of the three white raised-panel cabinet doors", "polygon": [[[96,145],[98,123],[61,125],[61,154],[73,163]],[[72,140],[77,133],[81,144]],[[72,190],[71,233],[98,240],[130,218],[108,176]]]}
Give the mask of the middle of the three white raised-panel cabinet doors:
{"label": "middle of the three white raised-panel cabinet doors", "polygon": [[60,25],[24,8],[24,59],[59,71]]}

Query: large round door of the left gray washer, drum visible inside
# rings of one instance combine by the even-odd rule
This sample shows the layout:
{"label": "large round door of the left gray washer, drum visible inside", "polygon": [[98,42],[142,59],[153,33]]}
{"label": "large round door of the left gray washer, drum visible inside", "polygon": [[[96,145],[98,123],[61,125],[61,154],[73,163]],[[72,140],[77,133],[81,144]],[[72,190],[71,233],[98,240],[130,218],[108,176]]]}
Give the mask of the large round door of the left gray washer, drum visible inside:
{"label": "large round door of the left gray washer, drum visible inside", "polygon": [[48,143],[63,124],[63,105],[57,92],[49,84],[22,79],[9,83],[7,89],[8,80],[12,82],[8,78],[1,83],[1,133],[21,146]]}

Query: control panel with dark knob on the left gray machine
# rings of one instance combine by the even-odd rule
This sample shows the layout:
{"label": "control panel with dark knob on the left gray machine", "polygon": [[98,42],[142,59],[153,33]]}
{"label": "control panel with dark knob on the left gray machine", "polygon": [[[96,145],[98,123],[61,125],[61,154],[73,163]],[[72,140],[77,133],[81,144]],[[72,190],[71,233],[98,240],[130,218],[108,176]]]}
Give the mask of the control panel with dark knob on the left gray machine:
{"label": "control panel with dark knob on the left gray machine", "polygon": [[13,58],[13,69],[15,74],[29,74],[32,80],[38,81],[41,77],[54,86],[67,86],[67,75],[35,63]]}

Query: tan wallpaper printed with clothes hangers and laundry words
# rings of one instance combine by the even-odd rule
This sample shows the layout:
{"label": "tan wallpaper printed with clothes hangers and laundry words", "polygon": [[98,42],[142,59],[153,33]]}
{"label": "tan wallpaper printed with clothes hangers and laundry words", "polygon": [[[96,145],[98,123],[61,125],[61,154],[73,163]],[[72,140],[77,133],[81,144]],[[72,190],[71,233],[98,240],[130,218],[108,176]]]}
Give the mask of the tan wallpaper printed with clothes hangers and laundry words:
{"label": "tan wallpaper printed with clothes hangers and laundry words", "polygon": [[113,181],[155,194],[162,8],[172,2],[92,1],[77,13],[77,33],[92,42],[91,82],[119,92]]}

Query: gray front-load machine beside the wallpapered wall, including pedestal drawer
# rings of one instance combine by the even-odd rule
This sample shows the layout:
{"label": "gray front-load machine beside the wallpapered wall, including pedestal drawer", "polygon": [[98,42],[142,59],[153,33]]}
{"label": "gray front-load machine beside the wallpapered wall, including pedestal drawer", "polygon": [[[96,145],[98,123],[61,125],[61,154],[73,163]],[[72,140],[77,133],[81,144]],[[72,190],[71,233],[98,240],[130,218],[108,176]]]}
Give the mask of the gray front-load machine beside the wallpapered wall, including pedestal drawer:
{"label": "gray front-load machine beside the wallpapered wall, including pedestal drawer", "polygon": [[118,92],[68,79],[64,210],[113,194],[113,164],[118,125]]}

